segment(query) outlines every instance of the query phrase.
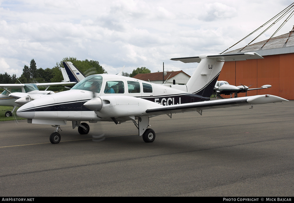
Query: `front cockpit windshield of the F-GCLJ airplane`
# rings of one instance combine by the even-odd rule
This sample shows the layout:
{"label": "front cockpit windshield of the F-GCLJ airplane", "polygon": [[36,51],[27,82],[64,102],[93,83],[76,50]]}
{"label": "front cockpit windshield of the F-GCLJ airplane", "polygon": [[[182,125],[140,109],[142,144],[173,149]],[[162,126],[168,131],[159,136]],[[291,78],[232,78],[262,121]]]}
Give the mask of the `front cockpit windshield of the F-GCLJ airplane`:
{"label": "front cockpit windshield of the F-GCLJ airplane", "polygon": [[93,91],[96,93],[100,93],[102,79],[103,78],[101,75],[90,75],[84,78],[83,80],[79,81],[71,89],[80,89],[80,90]]}

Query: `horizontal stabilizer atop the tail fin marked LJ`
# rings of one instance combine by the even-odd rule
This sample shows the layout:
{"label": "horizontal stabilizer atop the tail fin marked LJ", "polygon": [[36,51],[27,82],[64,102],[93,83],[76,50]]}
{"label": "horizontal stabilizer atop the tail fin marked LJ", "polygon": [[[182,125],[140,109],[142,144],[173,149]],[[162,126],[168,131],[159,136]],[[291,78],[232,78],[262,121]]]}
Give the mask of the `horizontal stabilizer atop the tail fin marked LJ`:
{"label": "horizontal stabilizer atop the tail fin marked LJ", "polygon": [[173,58],[173,61],[182,61],[184,63],[200,63],[201,59],[212,58],[212,59],[220,59],[222,61],[245,61],[247,59],[263,59],[262,56],[257,54],[256,52],[248,52],[248,53],[236,53],[236,54],[202,54],[200,56],[194,57],[183,57],[183,58]]}

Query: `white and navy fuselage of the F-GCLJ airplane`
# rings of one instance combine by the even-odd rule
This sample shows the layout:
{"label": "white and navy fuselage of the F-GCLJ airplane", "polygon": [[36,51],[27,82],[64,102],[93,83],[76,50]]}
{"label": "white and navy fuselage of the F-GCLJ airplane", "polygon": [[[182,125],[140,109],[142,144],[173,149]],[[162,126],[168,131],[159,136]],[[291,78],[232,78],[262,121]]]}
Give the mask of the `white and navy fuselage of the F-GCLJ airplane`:
{"label": "white and navy fuselage of the F-GCLJ airplane", "polygon": [[[52,122],[48,121],[48,124],[58,124],[54,120],[101,121],[106,118],[99,117],[93,110],[86,108],[83,104],[95,97],[103,96],[111,96],[114,99],[118,97],[122,98],[121,96],[128,96],[126,98],[131,99],[135,97],[149,101],[143,102],[144,104],[140,104],[137,101],[130,101],[129,103],[133,102],[133,106],[126,105],[123,109],[119,110],[127,109],[129,112],[132,112],[136,106],[140,105],[144,105],[142,109],[146,109],[146,105],[148,107],[158,105],[169,106],[209,100],[207,97],[160,84],[153,84],[124,76],[98,74],[88,76],[76,84],[71,90],[48,95],[23,105],[18,109],[17,115],[28,119],[51,120]],[[111,102],[112,104],[103,104],[106,111],[108,110],[106,108],[107,105],[109,105],[109,111],[113,110],[110,107],[111,105],[122,105],[119,102],[113,104],[115,102]]]}

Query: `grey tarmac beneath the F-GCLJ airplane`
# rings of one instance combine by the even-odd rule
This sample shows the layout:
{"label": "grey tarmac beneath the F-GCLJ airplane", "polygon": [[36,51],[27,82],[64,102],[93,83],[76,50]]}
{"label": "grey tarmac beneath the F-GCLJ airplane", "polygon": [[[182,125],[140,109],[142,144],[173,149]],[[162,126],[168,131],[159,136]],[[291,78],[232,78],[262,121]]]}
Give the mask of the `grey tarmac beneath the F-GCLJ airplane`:
{"label": "grey tarmac beneath the F-GCLJ airplane", "polygon": [[294,191],[294,101],[161,115],[153,143],[132,122],[0,122],[0,194],[285,197]]}

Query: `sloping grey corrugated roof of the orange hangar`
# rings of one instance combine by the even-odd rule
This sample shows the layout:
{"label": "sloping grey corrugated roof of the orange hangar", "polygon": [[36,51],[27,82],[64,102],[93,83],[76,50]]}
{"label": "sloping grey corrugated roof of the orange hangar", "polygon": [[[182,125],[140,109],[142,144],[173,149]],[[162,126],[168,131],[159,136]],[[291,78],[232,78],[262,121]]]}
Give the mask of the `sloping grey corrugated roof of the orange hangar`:
{"label": "sloping grey corrugated roof of the orange hangar", "polygon": [[[226,54],[238,53],[241,49],[243,49],[241,51],[242,53],[254,51],[261,56],[294,53],[294,34],[290,36],[287,44],[285,45],[285,42],[287,41],[289,34],[290,33],[286,33],[277,37],[273,37],[272,39],[270,39],[270,41],[260,41],[255,44],[248,45],[244,49],[242,47],[239,49],[235,49],[233,51],[228,51],[226,52]],[[266,41],[268,42],[266,43]],[[263,48],[260,50],[262,46]]]}

